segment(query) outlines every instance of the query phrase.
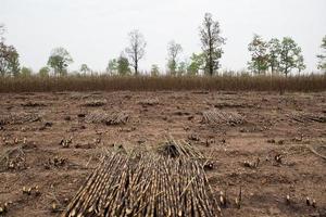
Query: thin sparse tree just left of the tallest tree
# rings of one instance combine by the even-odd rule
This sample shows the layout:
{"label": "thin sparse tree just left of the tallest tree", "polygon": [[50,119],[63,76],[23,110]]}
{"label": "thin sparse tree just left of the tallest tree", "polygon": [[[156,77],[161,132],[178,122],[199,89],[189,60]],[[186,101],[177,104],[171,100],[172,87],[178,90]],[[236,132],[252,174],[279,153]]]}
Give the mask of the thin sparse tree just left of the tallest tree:
{"label": "thin sparse tree just left of the tallest tree", "polygon": [[175,75],[176,74],[176,69],[177,69],[177,56],[178,54],[180,54],[183,52],[183,47],[179,43],[176,43],[175,41],[170,41],[167,44],[167,68],[168,68],[168,73],[171,75]]}

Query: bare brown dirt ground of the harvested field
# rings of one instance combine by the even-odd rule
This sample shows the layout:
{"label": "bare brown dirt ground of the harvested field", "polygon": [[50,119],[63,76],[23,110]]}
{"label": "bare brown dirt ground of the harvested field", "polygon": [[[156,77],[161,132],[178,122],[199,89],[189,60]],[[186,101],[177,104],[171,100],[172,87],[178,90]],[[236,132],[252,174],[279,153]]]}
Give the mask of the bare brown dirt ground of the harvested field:
{"label": "bare brown dirt ground of the harvested field", "polygon": [[[202,112],[213,108],[243,122],[203,123]],[[95,111],[123,111],[128,122],[85,122]],[[311,151],[326,155],[325,120],[325,92],[2,93],[0,204],[8,203],[5,216],[60,216],[101,153],[154,150],[174,138],[213,162],[206,175],[216,199],[226,192],[224,216],[325,217],[326,159]]]}

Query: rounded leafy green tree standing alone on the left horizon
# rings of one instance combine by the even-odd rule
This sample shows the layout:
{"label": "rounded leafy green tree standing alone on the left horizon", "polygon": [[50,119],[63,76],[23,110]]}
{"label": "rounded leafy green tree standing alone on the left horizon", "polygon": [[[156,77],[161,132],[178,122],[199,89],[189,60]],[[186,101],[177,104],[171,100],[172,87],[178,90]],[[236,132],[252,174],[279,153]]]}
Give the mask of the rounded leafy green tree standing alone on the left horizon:
{"label": "rounded leafy green tree standing alone on the left horizon", "polygon": [[66,75],[67,66],[73,63],[71,54],[64,48],[55,48],[52,50],[48,60],[48,65],[53,68],[54,75]]}

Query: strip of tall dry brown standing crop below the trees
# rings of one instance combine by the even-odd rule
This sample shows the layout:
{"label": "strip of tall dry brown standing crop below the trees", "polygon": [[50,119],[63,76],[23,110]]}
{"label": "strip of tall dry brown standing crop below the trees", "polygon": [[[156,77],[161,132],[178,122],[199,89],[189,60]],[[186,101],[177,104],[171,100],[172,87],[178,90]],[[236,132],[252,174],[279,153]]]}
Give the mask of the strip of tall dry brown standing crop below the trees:
{"label": "strip of tall dry brown standing crop below the trees", "polygon": [[155,90],[226,90],[226,91],[325,91],[325,75],[283,76],[67,76],[41,78],[0,78],[0,92],[49,91],[155,91]]}

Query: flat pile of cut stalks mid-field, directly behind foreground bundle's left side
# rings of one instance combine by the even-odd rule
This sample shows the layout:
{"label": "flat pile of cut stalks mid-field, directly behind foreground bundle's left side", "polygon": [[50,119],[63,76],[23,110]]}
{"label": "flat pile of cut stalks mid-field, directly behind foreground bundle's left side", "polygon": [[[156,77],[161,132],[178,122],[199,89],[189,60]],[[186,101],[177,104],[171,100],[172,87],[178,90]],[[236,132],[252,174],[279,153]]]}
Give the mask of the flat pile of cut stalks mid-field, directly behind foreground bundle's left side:
{"label": "flat pile of cut stalks mid-field, directly behind foreground bundle's left side", "polygon": [[86,123],[92,124],[105,124],[105,125],[120,125],[126,124],[129,116],[124,112],[105,113],[96,111],[86,116]]}

